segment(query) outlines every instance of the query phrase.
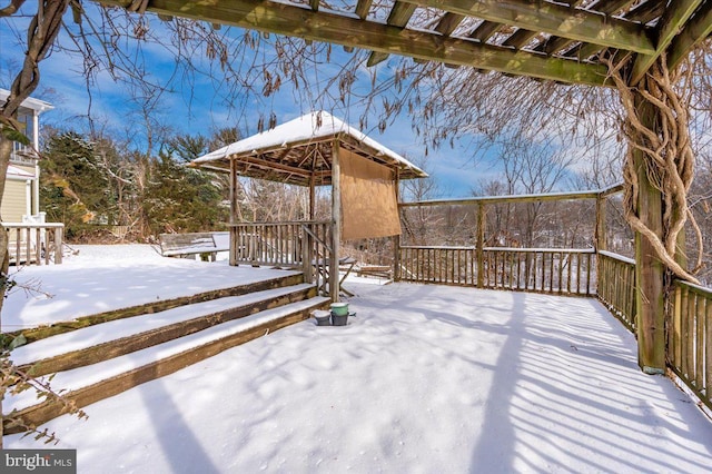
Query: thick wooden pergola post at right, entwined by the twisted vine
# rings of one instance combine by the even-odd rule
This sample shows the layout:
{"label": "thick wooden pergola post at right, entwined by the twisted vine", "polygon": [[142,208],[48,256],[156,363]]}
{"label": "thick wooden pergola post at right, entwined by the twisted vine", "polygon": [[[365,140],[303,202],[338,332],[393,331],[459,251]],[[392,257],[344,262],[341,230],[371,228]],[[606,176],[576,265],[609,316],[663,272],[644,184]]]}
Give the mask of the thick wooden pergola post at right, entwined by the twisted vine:
{"label": "thick wooden pergola post at right, entwined by the twisted vine", "polygon": [[[660,121],[657,109],[641,95],[635,93],[635,107],[643,125],[654,130]],[[663,197],[650,181],[646,157],[640,149],[633,150],[633,162],[639,182],[639,199],[635,203],[641,221],[662,238]],[[637,363],[646,374],[665,372],[665,268],[655,256],[646,237],[635,233],[635,280],[637,292]]]}

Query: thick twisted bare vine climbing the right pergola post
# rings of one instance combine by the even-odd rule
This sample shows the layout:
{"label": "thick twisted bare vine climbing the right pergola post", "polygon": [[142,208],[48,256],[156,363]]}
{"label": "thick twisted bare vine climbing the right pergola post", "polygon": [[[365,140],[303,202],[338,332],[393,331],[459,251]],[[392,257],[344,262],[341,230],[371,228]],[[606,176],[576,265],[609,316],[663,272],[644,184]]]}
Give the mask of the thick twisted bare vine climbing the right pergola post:
{"label": "thick twisted bare vine climbing the right pergola post", "polygon": [[[691,75],[670,71],[665,57],[661,56],[641,83],[631,87],[623,77],[623,62],[609,62],[607,66],[625,110],[622,129],[629,142],[623,167],[626,219],[635,231],[647,238],[656,257],[670,271],[679,278],[699,283],[693,274],[701,267],[702,234],[688,205],[688,191],[694,176],[688,112]],[[642,109],[654,117],[652,124],[642,117]],[[635,159],[636,154],[642,155],[642,159]],[[661,235],[651,229],[639,214],[641,186],[637,166],[644,166],[647,180],[662,195]],[[684,249],[679,247],[679,237],[686,223],[694,229],[699,248],[692,270],[679,263],[679,257],[684,256],[681,255]]]}

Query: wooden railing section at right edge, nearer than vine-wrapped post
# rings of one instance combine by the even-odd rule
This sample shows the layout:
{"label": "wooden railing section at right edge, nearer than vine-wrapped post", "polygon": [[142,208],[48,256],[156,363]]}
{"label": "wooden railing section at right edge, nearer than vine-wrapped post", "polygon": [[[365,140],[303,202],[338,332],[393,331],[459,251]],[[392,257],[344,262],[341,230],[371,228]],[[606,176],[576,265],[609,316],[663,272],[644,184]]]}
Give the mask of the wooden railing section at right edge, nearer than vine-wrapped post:
{"label": "wooden railing section at right edge, nearer than vine-wrapped post", "polygon": [[674,283],[668,364],[712,409],[712,289]]}

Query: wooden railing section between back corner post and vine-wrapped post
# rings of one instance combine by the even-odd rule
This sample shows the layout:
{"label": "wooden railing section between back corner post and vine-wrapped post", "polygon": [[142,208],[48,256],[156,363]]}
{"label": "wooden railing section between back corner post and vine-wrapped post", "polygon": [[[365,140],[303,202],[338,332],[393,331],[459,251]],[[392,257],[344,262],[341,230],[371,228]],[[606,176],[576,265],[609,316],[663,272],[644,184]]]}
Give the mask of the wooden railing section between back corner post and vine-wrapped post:
{"label": "wooden railing section between back corner post and vine-wrapped post", "polygon": [[597,279],[601,303],[635,333],[635,260],[600,251]]}

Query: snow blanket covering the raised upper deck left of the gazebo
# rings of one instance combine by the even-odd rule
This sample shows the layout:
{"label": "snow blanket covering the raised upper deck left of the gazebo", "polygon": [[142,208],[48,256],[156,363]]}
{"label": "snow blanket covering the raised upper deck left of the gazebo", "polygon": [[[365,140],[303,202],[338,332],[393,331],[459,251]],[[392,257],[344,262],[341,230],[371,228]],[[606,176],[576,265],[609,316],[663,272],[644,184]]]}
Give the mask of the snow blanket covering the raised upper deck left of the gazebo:
{"label": "snow blanket covering the raised upper deck left of the gazebo", "polygon": [[287,275],[285,270],[211,265],[161,257],[149,245],[77,246],[61,265],[11,267],[18,285],[38,288],[28,298],[13,288],[2,307],[2,330],[72,320],[111,309],[229,288]]}

